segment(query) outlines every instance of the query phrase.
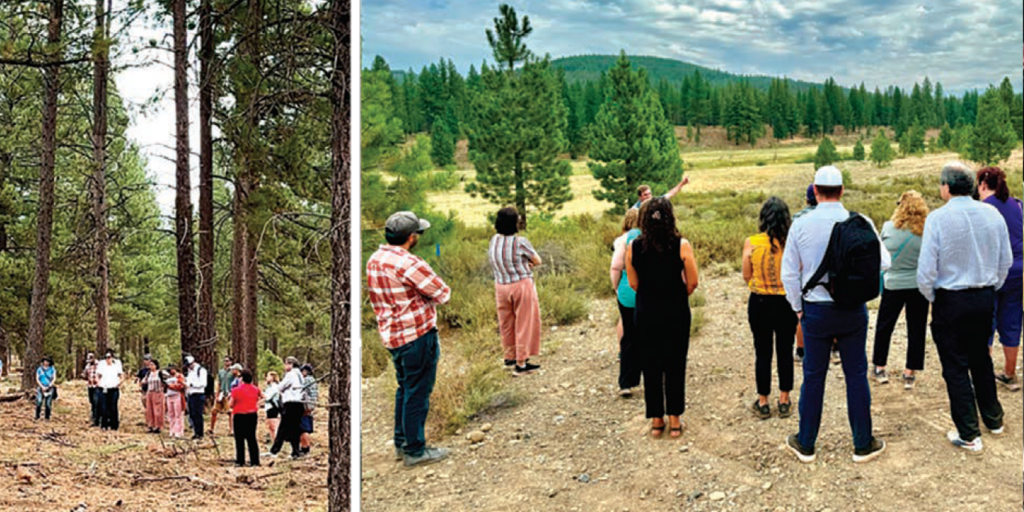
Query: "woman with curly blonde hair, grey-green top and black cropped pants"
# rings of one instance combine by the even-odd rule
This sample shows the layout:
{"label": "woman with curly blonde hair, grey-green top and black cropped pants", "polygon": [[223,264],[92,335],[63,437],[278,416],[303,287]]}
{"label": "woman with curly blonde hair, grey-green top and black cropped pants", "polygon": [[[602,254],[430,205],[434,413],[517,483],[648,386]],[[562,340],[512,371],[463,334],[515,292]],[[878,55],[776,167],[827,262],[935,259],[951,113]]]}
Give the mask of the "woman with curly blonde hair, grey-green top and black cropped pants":
{"label": "woman with curly blonde hair, grey-green top and black cropped pants", "polygon": [[916,190],[908,190],[896,203],[892,220],[882,226],[882,243],[892,254],[892,267],[885,272],[885,289],[874,331],[873,376],[879,384],[889,382],[886,366],[889,346],[900,312],[906,308],[906,368],[903,387],[913,389],[916,373],[925,370],[925,336],[928,332],[928,299],[918,289],[918,259],[925,231],[928,204]]}

